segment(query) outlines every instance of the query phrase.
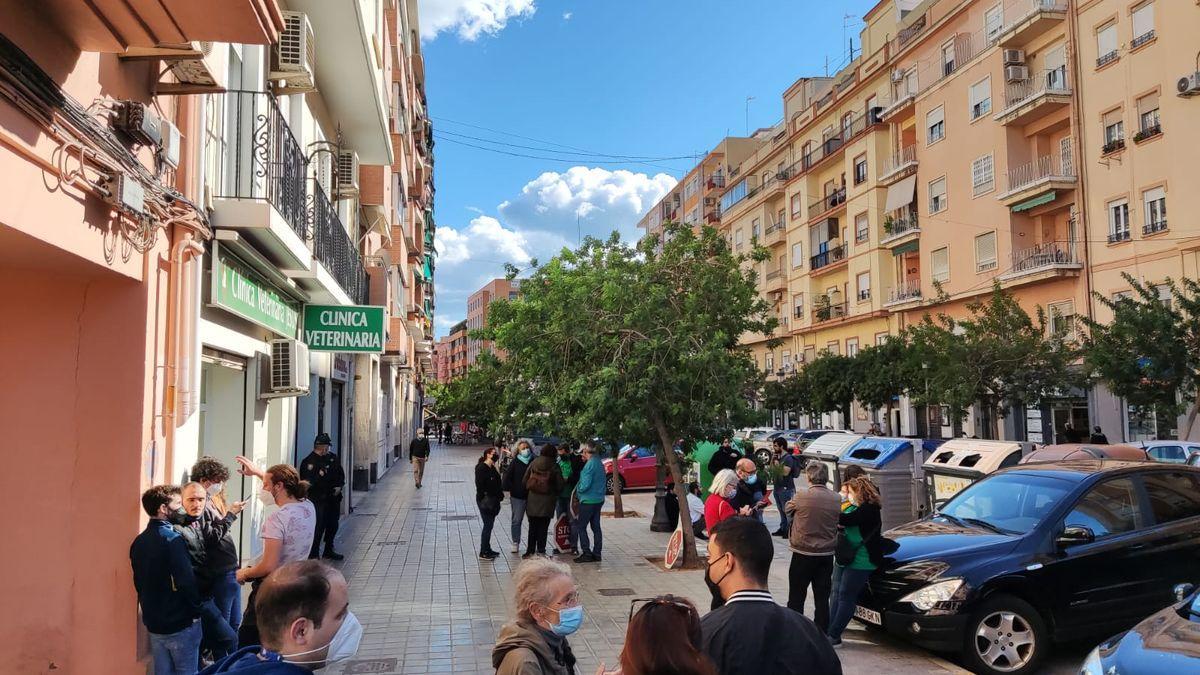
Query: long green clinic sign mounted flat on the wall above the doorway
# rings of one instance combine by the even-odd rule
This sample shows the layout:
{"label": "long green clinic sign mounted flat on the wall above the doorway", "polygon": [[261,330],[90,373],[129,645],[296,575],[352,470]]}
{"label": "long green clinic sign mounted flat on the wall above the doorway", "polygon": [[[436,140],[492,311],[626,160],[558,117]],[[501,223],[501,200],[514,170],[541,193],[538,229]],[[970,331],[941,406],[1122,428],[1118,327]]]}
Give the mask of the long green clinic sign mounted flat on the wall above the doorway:
{"label": "long green clinic sign mounted flat on the wall above the doorway", "polygon": [[295,338],[300,303],[281,295],[221,246],[212,258],[212,304],[283,338]]}

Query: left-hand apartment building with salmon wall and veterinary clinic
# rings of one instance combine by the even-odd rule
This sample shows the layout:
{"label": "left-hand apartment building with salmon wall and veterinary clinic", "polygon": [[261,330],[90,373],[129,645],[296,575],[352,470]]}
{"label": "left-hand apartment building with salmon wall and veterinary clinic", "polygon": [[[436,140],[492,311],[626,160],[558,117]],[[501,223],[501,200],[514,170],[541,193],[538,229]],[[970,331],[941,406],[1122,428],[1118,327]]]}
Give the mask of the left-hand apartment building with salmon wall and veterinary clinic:
{"label": "left-hand apartment building with salmon wall and veterinary clinic", "polygon": [[[145,488],[199,455],[295,464],[325,431],[368,489],[433,375],[415,0],[85,5],[0,6],[0,303],[19,317],[0,408],[24,448],[2,489],[31,507],[4,574],[34,608],[6,620],[17,671],[145,670]],[[331,346],[322,313],[374,327]],[[239,519],[246,561],[264,515]]]}

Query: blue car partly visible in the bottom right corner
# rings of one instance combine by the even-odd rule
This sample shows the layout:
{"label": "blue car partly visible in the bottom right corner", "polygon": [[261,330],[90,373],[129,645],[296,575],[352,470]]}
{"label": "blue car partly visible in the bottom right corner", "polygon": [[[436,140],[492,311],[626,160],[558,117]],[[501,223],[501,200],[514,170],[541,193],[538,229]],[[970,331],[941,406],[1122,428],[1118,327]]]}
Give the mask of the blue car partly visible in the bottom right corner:
{"label": "blue car partly visible in the bottom right corner", "polygon": [[1080,675],[1200,673],[1200,591],[1182,585],[1175,604],[1099,644]]}

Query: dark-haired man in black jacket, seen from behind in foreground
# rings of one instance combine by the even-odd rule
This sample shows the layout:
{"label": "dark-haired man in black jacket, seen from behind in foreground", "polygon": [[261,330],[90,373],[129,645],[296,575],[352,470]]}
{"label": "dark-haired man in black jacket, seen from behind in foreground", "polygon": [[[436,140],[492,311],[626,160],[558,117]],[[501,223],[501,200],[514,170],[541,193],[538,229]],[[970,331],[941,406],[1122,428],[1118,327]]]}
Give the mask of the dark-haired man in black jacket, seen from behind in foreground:
{"label": "dark-haired man in black jacket, seen from behind in foreground", "polygon": [[722,675],[841,675],[833,645],[805,616],[767,590],[775,555],[767,526],[733,516],[708,533],[708,569],[725,605],[700,620],[701,649]]}

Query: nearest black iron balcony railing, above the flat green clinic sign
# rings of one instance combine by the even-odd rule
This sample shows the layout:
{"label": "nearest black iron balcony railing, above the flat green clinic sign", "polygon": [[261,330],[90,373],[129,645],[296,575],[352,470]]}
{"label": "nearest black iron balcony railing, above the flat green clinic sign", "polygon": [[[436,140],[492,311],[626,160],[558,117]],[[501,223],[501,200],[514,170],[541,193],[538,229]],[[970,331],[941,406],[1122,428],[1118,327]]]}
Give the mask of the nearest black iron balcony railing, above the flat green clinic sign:
{"label": "nearest black iron balcony railing, above the flat green clinic sign", "polygon": [[214,197],[260,199],[308,237],[305,207],[307,161],[275,97],[263,91],[214,94],[211,114],[223,133],[210,139]]}

